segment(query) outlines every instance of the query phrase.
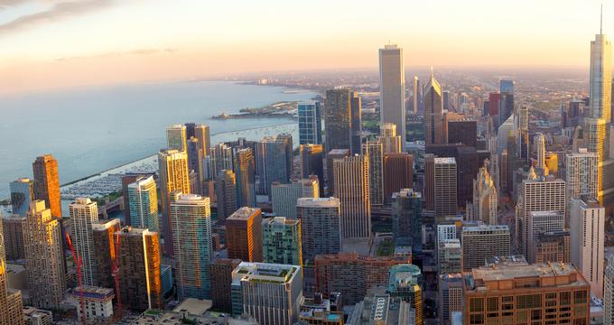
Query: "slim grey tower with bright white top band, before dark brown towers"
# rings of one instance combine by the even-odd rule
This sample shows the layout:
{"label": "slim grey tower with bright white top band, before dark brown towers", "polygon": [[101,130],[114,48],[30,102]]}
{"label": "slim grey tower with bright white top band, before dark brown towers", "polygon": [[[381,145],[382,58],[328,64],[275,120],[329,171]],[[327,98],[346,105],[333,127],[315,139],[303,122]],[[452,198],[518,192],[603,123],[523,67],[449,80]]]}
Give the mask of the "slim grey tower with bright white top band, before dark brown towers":
{"label": "slim grey tower with bright white top band, before dark brown towers", "polygon": [[458,209],[456,160],[454,158],[434,158],[433,163],[435,218],[442,219],[455,216]]}

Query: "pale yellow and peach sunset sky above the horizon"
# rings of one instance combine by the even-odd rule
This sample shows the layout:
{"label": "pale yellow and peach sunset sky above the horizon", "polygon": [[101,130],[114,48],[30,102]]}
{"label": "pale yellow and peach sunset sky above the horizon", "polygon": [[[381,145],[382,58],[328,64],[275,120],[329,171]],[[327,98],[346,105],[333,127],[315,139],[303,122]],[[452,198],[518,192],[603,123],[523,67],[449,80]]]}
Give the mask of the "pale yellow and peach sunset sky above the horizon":
{"label": "pale yellow and peach sunset sky above the horizon", "polygon": [[[603,9],[614,34],[614,2]],[[588,67],[593,0],[0,0],[0,93],[284,70]]]}

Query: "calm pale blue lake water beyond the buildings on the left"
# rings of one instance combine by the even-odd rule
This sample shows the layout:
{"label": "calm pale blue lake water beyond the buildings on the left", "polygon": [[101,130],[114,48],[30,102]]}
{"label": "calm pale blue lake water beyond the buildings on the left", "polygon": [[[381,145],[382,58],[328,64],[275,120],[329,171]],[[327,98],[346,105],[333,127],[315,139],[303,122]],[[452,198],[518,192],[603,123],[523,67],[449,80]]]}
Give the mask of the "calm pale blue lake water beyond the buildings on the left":
{"label": "calm pale blue lake water beyond the buildings on the left", "polygon": [[168,125],[205,123],[214,134],[293,123],[288,118],[210,118],[316,95],[284,90],[203,81],[0,98],[0,198],[8,197],[10,181],[32,177],[32,162],[42,153],[55,156],[60,183],[66,183],[157,153],[165,144]]}

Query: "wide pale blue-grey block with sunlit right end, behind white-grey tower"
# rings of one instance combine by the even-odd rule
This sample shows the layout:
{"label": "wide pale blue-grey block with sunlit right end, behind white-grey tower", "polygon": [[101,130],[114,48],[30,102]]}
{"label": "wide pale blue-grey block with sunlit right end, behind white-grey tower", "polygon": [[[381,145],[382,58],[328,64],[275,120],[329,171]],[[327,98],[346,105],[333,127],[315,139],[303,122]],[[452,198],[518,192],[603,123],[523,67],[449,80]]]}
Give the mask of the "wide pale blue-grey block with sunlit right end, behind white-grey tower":
{"label": "wide pale blue-grey block with sunlit right end, behind white-grey tower", "polygon": [[274,182],[271,186],[271,202],[275,216],[296,219],[296,200],[320,198],[319,183],[315,175],[308,179],[294,180],[290,184]]}

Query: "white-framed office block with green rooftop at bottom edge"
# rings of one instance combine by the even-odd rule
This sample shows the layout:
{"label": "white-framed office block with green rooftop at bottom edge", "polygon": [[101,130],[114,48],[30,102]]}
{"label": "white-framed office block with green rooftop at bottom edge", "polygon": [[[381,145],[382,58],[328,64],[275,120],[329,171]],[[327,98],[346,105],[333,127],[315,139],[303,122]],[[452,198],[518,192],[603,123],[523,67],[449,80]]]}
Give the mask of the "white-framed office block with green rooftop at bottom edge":
{"label": "white-framed office block with green rooftop at bottom edge", "polygon": [[247,313],[260,324],[293,325],[302,302],[302,268],[241,262],[232,272],[232,292],[233,314]]}

